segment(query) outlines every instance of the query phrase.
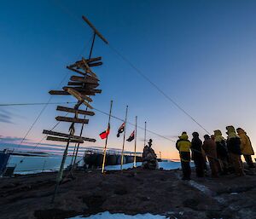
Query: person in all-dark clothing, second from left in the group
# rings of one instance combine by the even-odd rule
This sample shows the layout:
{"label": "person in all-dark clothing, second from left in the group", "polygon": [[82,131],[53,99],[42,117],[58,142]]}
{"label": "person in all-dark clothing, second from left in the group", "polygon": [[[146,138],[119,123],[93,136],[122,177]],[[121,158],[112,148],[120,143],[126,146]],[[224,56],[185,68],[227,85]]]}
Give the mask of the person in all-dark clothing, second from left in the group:
{"label": "person in all-dark clothing, second from left in the group", "polygon": [[201,151],[202,141],[200,140],[199,134],[197,132],[194,132],[192,135],[193,135],[193,139],[191,141],[191,151],[192,151],[192,159],[194,160],[194,163],[195,163],[196,176],[203,177],[205,159]]}

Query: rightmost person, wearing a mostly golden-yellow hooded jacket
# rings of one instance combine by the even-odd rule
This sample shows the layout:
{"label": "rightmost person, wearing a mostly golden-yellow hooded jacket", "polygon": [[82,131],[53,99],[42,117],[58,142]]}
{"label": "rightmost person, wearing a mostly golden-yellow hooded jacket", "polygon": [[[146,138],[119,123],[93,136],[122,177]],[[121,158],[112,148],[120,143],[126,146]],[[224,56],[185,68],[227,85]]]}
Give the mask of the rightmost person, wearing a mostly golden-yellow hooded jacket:
{"label": "rightmost person, wearing a mostly golden-yellow hooded jacket", "polygon": [[252,155],[254,155],[252,143],[245,130],[241,128],[236,129],[237,134],[241,139],[241,154],[245,158],[249,168],[255,168],[253,164]]}

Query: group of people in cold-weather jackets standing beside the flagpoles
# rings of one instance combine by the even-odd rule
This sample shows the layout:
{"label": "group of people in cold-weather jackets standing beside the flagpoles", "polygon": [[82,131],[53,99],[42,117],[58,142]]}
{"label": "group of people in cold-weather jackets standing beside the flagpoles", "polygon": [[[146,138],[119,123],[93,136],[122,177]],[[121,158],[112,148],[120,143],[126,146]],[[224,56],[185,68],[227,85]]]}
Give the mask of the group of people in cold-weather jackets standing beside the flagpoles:
{"label": "group of people in cold-weather jackets standing beside the flagpoles", "polygon": [[245,130],[234,126],[226,127],[227,140],[220,130],[214,130],[214,135],[204,135],[202,142],[199,134],[194,132],[190,142],[189,136],[184,131],[176,142],[180,154],[183,170],[183,180],[190,180],[190,151],[195,163],[196,176],[204,177],[207,171],[207,160],[210,165],[212,177],[235,172],[236,176],[244,176],[241,155],[245,158],[248,168],[255,168],[252,155],[253,147]]}

